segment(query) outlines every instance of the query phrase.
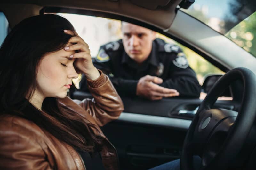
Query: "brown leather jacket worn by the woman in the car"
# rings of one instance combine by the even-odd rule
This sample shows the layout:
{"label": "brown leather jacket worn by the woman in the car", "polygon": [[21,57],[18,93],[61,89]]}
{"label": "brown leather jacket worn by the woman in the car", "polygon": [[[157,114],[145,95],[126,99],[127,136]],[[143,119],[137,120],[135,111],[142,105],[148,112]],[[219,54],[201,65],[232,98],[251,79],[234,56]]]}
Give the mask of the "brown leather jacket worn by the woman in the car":
{"label": "brown leather jacket worn by the woman in the car", "polygon": [[[66,97],[60,103],[98,125],[99,135],[106,139],[101,151],[103,165],[105,169],[118,169],[117,152],[99,126],[119,117],[124,109],[122,100],[102,72],[97,80],[88,80],[88,88],[93,99],[78,101]],[[48,131],[24,118],[5,114],[0,116],[0,169],[82,170],[86,165],[70,145]]]}

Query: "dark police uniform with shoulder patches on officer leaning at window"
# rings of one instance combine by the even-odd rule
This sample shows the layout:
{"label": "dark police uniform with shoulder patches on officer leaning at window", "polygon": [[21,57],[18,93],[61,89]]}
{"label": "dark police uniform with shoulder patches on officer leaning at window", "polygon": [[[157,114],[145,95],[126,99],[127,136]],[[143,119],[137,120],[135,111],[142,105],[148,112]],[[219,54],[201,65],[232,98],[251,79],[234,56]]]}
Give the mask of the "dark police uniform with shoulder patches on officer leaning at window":
{"label": "dark police uniform with shoulder patches on officer leaning at window", "polygon": [[[189,67],[188,60],[179,46],[155,39],[147,60],[138,64],[124,50],[122,40],[100,47],[94,65],[107,74],[117,92],[123,96],[135,96],[138,80],[145,76],[163,79],[162,87],[176,89],[180,96],[199,97],[201,86],[196,73]],[[80,89],[86,90],[86,79],[82,78]]]}

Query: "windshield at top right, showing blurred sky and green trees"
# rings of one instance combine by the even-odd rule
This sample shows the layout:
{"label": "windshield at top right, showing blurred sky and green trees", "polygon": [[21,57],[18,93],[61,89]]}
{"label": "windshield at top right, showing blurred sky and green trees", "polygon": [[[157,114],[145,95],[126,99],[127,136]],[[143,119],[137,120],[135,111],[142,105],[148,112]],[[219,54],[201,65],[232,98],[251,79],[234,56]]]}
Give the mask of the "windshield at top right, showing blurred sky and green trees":
{"label": "windshield at top right, showing blurred sky and green trees", "polygon": [[196,0],[181,10],[256,56],[255,0]]}

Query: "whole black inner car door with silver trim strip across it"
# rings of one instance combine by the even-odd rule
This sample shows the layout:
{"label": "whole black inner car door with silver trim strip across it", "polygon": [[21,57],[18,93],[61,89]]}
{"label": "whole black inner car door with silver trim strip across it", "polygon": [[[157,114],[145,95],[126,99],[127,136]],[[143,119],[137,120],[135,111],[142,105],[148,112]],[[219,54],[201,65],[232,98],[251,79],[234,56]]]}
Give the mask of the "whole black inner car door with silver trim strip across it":
{"label": "whole black inner car door with silver trim strip across it", "polygon": [[[72,98],[92,98],[75,91]],[[121,169],[148,169],[180,158],[182,144],[196,108],[202,100],[165,98],[149,101],[122,97],[124,111],[119,119],[101,127],[116,147]],[[238,110],[235,101],[217,101],[216,108]]]}

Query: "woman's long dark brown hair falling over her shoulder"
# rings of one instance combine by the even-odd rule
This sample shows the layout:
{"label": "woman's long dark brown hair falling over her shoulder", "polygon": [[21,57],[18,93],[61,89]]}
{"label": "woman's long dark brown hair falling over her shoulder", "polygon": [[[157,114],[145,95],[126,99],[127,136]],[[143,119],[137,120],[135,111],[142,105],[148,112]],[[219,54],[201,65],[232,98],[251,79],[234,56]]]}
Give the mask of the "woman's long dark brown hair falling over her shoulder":
{"label": "woman's long dark brown hair falling over her shoulder", "polygon": [[28,102],[42,57],[64,48],[71,38],[64,29],[75,31],[67,19],[46,14],[24,19],[7,35],[0,49],[0,114],[26,118],[75,149],[92,152],[95,146],[102,148],[102,138],[92,130],[95,125],[57,98],[45,98],[42,111]]}

